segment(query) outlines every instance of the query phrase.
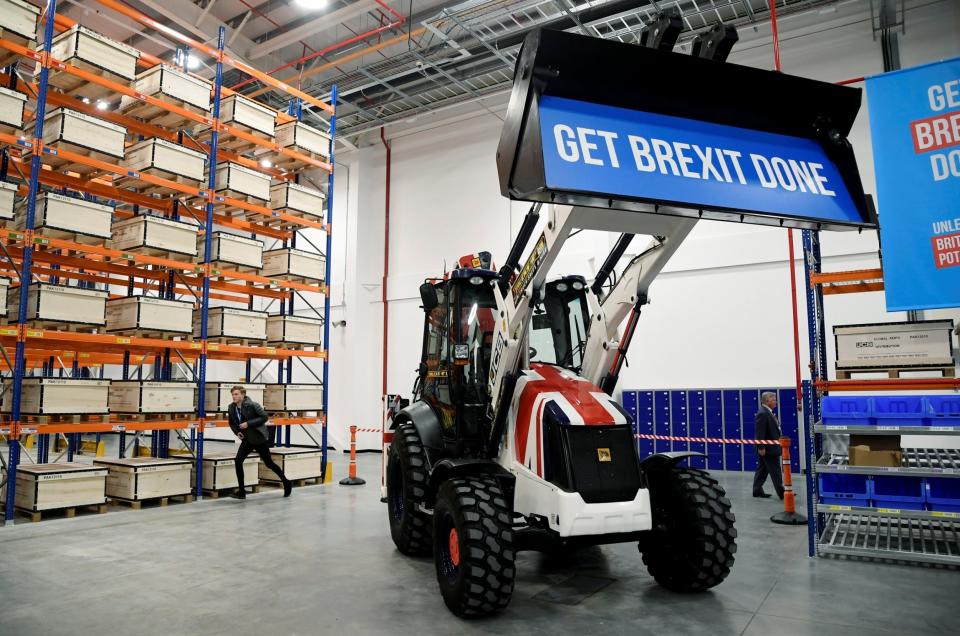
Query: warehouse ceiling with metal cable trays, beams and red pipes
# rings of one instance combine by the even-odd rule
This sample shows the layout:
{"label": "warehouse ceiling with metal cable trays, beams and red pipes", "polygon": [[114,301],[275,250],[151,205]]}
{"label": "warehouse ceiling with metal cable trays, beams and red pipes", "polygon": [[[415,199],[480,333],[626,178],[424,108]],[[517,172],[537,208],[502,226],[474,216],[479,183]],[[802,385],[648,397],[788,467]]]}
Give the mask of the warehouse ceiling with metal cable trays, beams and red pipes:
{"label": "warehouse ceiling with metal cable trays, beams and red pipes", "polygon": [[[879,0],[886,2],[887,0]],[[127,0],[161,24],[216,45],[225,27],[231,54],[324,100],[339,91],[338,136],[356,142],[385,124],[505,92],[524,35],[549,27],[635,42],[658,11],[677,7],[681,47],[716,22],[769,21],[767,0]],[[873,2],[779,0],[787,19]],[[903,11],[900,4],[901,15]],[[60,0],[60,12],[164,59],[176,43],[101,10],[95,0]],[[189,54],[189,52],[188,52]],[[212,76],[213,61],[190,59]],[[224,85],[285,108],[276,93],[233,69]],[[305,121],[319,114],[305,112]]]}

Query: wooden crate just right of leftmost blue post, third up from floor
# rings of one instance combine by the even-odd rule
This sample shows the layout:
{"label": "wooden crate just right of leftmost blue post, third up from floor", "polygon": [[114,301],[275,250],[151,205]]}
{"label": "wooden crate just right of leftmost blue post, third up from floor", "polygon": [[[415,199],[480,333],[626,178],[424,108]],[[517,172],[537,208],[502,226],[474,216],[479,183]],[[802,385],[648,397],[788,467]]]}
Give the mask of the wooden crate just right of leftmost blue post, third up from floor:
{"label": "wooden crate just right of leftmost blue post, third up from floor", "polygon": [[[20,293],[9,294],[8,316],[17,316]],[[107,292],[33,283],[27,294],[27,320],[102,327],[107,324]]]}

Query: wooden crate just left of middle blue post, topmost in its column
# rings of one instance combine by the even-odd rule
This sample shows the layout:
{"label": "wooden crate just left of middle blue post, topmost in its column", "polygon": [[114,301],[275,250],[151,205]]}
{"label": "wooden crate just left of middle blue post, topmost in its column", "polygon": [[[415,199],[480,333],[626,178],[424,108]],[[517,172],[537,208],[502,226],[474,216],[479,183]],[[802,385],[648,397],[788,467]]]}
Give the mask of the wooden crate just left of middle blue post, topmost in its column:
{"label": "wooden crate just left of middle blue post, topmost in its column", "polygon": [[[133,82],[133,89],[144,95],[162,99],[167,103],[184,106],[194,112],[204,115],[210,114],[210,91],[212,89],[210,82],[166,64],[158,64],[139,73]],[[151,109],[149,110],[150,114],[143,109],[144,106]],[[153,118],[153,115],[161,111],[160,107],[145,104],[143,100],[129,95],[120,98],[120,110],[142,119],[149,118],[154,123],[162,123]],[[173,114],[169,111],[164,112],[168,115]],[[176,115],[176,117],[182,120],[180,115]]]}

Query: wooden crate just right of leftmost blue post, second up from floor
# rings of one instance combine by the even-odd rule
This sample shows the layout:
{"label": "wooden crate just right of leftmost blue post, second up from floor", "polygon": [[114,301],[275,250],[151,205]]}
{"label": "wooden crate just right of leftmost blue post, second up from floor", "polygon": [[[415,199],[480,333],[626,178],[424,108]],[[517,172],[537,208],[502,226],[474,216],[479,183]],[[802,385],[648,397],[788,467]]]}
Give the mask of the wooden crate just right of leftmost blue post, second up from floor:
{"label": "wooden crate just right of leftmost blue post, second up from floor", "polygon": [[[13,407],[13,380],[3,381],[4,413]],[[110,380],[86,378],[24,378],[21,415],[105,415],[109,412]]]}

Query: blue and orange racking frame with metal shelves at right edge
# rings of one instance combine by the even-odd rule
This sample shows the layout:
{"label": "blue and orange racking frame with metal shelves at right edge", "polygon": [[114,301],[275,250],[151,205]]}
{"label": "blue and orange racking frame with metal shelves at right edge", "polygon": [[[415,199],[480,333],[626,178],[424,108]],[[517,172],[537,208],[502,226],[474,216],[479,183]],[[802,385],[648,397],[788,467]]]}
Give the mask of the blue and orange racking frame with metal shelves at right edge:
{"label": "blue and orange racking frame with metal shelves at right edge", "polygon": [[[810,556],[838,555],[909,563],[960,565],[960,512],[907,506],[820,503],[817,475],[903,475],[960,479],[960,455],[949,449],[904,449],[900,467],[850,466],[848,458],[825,453],[823,436],[960,435],[958,426],[834,426],[821,422],[820,398],[841,391],[960,390],[960,379],[901,378],[829,380],[824,296],[883,290],[880,268],[823,272],[818,232],[803,233],[807,325],[813,391],[804,392],[806,418],[808,548]],[[870,503],[870,502],[867,502]]]}

